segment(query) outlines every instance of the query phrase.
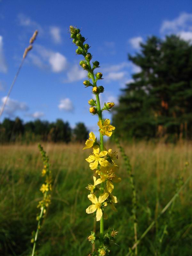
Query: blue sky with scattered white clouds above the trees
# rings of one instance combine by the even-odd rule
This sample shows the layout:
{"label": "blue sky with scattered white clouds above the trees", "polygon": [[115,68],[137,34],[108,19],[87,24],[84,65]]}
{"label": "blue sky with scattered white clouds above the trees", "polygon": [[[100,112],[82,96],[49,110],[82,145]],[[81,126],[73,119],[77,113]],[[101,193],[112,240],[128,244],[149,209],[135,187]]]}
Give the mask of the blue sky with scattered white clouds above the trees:
{"label": "blue sky with scattered white clouds above the trees", "polygon": [[[139,68],[127,54],[140,50],[139,43],[156,35],[178,34],[192,39],[191,1],[27,1],[0,0],[0,105],[9,90],[25,47],[33,32],[39,34],[14,85],[4,117],[29,121],[62,118],[72,127],[84,122],[97,130],[97,118],[89,113],[91,87],[84,88],[86,72],[81,56],[69,39],[68,27],[82,28],[91,45],[93,60],[105,87],[101,101],[118,104],[120,89]],[[104,113],[104,117],[110,114]]]}

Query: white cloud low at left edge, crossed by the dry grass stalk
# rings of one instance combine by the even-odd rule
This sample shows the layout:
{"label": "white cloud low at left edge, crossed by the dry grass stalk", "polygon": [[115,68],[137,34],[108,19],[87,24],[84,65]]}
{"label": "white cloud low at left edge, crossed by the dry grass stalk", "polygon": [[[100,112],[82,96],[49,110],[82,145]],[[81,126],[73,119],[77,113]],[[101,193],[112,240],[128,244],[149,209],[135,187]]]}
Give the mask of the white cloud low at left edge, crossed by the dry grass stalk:
{"label": "white cloud low at left edge, crossed by the dry grass stalk", "polygon": [[[3,104],[4,104],[5,100],[6,100],[6,96],[1,99]],[[3,104],[2,104],[2,106],[3,106]],[[10,98],[8,98],[5,108],[4,108],[4,112],[9,116],[14,116],[17,111],[25,112],[27,110],[28,110],[28,106],[25,102],[19,102],[17,100],[13,100]]]}

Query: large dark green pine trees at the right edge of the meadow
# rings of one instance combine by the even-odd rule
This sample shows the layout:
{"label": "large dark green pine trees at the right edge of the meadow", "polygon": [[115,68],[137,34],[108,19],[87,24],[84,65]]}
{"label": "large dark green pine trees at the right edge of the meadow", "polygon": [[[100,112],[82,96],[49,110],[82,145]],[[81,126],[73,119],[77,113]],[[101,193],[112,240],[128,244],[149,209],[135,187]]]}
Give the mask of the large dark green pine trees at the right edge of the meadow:
{"label": "large dark green pine trees at the right edge of the meadow", "polygon": [[[177,36],[156,36],[129,60],[140,67],[113,115],[123,138],[192,138],[192,45]],[[118,125],[117,125],[118,124]]]}

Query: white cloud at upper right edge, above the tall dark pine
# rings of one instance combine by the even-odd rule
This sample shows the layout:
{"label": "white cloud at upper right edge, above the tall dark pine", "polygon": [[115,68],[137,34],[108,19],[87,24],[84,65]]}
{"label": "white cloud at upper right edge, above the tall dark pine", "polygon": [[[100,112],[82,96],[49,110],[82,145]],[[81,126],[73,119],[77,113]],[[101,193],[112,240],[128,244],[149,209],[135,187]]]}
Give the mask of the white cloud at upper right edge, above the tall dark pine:
{"label": "white cloud at upper right edge, above the tall dark pine", "polygon": [[160,32],[177,33],[178,30],[185,30],[189,28],[192,22],[192,13],[182,12],[178,18],[173,20],[164,20],[160,28]]}

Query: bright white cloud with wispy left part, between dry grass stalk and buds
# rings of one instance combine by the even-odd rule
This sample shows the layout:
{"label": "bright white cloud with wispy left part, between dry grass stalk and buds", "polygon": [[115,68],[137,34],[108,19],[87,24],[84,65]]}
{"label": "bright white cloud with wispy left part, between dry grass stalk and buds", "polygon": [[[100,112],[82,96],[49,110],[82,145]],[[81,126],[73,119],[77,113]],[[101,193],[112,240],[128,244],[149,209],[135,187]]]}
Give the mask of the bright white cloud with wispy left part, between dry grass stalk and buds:
{"label": "bright white cloud with wispy left part, between dry grass stalk and buds", "polygon": [[34,53],[30,53],[29,56],[37,67],[45,68],[48,66],[55,73],[59,73],[68,67],[67,58],[60,52],[53,52],[39,44],[34,45],[34,50],[36,50],[38,56]]}

